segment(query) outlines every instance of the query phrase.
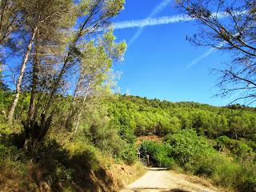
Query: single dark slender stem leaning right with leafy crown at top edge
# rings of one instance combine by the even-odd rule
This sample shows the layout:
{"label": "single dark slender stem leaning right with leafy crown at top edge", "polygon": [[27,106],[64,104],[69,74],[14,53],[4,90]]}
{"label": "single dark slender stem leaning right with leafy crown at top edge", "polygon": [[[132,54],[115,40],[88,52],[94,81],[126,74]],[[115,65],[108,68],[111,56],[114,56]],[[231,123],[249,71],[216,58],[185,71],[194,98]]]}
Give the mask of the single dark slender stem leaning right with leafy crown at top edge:
{"label": "single dark slender stem leaning right with leafy crown at top edge", "polygon": [[59,86],[61,86],[65,74],[70,73],[70,70],[74,70],[74,67],[77,66],[81,59],[82,54],[81,50],[79,50],[79,43],[86,38],[90,38],[89,35],[92,36],[107,28],[110,18],[114,17],[123,9],[123,4],[124,0],[91,0],[80,2],[78,18],[81,19],[78,22],[78,30],[75,31],[73,38],[70,40],[62,68],[50,89],[50,98],[46,104],[45,114],[48,113],[54,95],[58,91]]}

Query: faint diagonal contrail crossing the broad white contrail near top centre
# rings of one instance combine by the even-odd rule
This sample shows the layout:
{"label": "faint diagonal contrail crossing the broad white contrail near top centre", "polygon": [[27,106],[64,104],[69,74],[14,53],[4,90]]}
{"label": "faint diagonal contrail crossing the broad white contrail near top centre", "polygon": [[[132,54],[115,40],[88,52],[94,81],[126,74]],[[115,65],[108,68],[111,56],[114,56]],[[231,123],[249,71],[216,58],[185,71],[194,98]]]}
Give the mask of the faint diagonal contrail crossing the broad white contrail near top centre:
{"label": "faint diagonal contrail crossing the broad white contrail near top centre", "polygon": [[[161,12],[168,4],[170,3],[170,0],[164,0],[162,1],[158,6],[154,8],[154,10],[149,14],[149,16],[146,19],[153,18],[156,14]],[[142,34],[143,28],[145,26],[139,26],[138,30],[134,34],[134,36],[130,39],[129,44],[133,43],[139,36]]]}

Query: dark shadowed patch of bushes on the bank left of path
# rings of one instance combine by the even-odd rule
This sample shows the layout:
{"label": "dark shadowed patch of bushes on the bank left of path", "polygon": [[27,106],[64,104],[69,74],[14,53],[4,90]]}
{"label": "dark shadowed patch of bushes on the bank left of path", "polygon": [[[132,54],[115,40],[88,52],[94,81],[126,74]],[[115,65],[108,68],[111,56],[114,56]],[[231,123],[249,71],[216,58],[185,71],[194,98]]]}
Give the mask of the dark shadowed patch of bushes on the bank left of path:
{"label": "dark shadowed patch of bushes on the bank left of path", "polygon": [[46,181],[51,190],[64,191],[113,191],[114,179],[100,166],[93,151],[86,149],[70,154],[57,142],[42,147],[36,159],[41,177],[34,177],[37,184]]}

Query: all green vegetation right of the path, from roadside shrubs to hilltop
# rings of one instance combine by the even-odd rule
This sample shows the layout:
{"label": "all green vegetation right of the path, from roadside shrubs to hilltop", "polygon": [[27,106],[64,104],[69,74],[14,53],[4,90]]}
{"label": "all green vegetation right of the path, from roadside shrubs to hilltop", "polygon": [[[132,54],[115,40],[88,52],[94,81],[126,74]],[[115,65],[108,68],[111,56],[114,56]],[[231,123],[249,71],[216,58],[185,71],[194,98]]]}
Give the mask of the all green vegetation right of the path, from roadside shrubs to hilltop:
{"label": "all green vegetation right of the path, from roadside shrubs to hilltop", "polygon": [[182,167],[220,186],[256,190],[255,108],[210,106],[120,96],[110,103],[110,117],[126,141],[142,135],[162,136],[143,141],[142,158],[152,166]]}

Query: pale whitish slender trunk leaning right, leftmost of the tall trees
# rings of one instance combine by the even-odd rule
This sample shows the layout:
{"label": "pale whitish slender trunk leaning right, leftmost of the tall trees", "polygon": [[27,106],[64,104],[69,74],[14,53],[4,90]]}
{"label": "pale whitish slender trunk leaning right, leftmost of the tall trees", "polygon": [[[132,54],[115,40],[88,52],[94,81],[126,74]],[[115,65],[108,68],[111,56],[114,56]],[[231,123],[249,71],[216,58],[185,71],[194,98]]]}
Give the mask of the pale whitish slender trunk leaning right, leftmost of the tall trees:
{"label": "pale whitish slender trunk leaning right, leftmost of the tall trees", "polygon": [[26,62],[28,61],[28,58],[30,56],[30,50],[32,49],[32,44],[34,42],[34,37],[35,37],[35,34],[36,34],[37,30],[38,30],[38,27],[35,27],[34,31],[33,31],[33,34],[30,38],[30,43],[27,46],[27,50],[26,50],[26,53],[25,53],[23,61],[22,61],[21,71],[20,71],[20,74],[18,76],[18,81],[17,81],[17,84],[16,84],[16,91],[15,91],[16,93],[15,93],[14,101],[13,101],[12,106],[10,107],[10,112],[9,112],[9,115],[8,115],[8,122],[10,122],[10,123],[13,121],[13,118],[14,118],[14,110],[15,110],[17,104],[18,104],[18,98],[19,98],[19,94],[20,94],[21,86],[22,86],[22,78],[23,78],[23,75],[24,75],[25,70],[26,70]]}

